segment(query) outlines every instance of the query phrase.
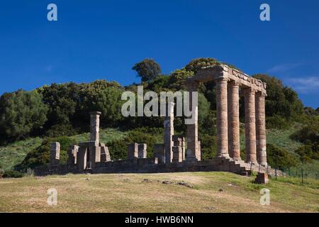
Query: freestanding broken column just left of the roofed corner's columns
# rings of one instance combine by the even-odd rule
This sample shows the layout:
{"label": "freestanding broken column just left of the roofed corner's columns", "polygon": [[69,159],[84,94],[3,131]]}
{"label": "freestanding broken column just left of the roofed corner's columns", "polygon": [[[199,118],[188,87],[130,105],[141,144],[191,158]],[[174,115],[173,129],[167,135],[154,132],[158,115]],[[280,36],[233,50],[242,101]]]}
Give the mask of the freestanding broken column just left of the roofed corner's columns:
{"label": "freestanding broken column just left of the roofed corner's columns", "polygon": [[166,114],[164,118],[164,146],[165,162],[170,163],[173,160],[173,140],[174,135],[174,102],[166,104]]}

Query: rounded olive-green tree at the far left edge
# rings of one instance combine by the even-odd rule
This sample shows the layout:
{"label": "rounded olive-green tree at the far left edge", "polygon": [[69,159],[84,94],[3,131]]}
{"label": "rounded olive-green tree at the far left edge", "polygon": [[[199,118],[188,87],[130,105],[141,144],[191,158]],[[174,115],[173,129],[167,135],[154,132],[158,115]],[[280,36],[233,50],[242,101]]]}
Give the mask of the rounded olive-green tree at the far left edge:
{"label": "rounded olive-green tree at the far left edge", "polygon": [[40,130],[46,114],[47,106],[38,92],[18,90],[0,98],[0,130],[6,138],[20,139]]}

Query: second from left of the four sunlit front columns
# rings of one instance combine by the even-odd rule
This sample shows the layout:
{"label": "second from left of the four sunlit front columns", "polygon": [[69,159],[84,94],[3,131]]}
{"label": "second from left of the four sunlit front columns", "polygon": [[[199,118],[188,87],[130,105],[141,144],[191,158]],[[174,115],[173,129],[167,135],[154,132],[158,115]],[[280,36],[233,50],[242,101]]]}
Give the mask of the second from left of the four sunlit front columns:
{"label": "second from left of the four sunlit front columns", "polygon": [[234,160],[240,159],[239,84],[228,83],[228,153]]}

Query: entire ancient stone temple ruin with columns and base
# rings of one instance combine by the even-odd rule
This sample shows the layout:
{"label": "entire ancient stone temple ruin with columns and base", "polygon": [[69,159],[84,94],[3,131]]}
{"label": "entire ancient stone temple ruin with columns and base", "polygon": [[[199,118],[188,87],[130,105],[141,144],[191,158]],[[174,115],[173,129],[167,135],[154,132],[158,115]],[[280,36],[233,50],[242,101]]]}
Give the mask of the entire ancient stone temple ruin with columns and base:
{"label": "entire ancient stone temple ruin with columns and base", "polygon": [[[105,144],[99,141],[101,112],[91,112],[91,136],[87,142],[72,145],[66,165],[60,165],[60,143],[52,143],[50,165],[35,168],[35,175],[111,172],[194,172],[229,171],[248,175],[252,170],[274,175],[267,165],[265,96],[266,84],[226,65],[198,70],[186,79],[189,92],[197,92],[202,82],[216,82],[217,155],[213,160],[201,160],[201,141],[198,138],[198,106],[195,121],[187,125],[186,138],[174,135],[174,103],[167,103],[164,118],[164,143],[156,144],[152,157],[147,157],[147,144],[128,144],[126,160],[111,160]],[[239,100],[245,100],[245,153],[240,157]],[[277,171],[277,174],[282,174]]]}

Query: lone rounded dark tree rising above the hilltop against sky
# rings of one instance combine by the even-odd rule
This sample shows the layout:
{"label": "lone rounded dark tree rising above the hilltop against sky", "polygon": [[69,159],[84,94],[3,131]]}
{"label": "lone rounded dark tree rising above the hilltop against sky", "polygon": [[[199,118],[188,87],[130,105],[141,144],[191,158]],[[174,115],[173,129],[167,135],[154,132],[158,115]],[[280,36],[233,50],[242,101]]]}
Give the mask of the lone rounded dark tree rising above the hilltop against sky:
{"label": "lone rounded dark tree rising above the hilltop against sky", "polygon": [[159,64],[150,58],[146,58],[141,62],[136,63],[132,70],[138,72],[138,76],[141,77],[142,82],[147,82],[161,74],[162,70]]}

